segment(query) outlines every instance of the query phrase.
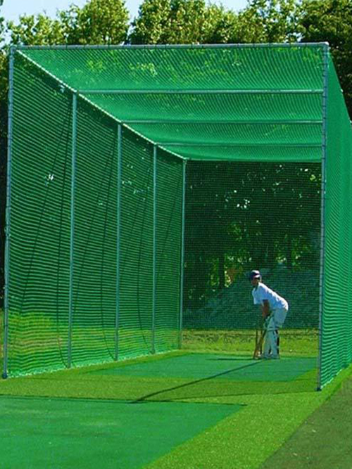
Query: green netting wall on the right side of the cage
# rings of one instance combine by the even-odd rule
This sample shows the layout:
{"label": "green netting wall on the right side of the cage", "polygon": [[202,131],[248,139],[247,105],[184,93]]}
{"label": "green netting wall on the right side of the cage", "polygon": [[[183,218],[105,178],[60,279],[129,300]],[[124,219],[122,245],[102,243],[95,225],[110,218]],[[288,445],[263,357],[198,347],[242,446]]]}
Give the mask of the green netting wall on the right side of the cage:
{"label": "green netting wall on the right side of the cage", "polygon": [[352,132],[331,58],[327,78],[327,198],[320,385],[328,383],[352,361],[352,305],[346,286],[348,272],[352,269]]}

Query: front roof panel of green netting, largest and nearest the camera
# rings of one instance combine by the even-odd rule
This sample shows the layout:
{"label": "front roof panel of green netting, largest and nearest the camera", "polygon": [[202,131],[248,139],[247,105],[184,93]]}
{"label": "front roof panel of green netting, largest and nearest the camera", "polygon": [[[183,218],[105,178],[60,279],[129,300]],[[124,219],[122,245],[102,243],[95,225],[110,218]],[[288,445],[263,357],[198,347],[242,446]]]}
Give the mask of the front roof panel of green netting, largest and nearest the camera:
{"label": "front roof panel of green netting, largest and nearest the camera", "polygon": [[23,53],[78,90],[321,90],[323,49],[323,44],[223,45],[32,48]]}

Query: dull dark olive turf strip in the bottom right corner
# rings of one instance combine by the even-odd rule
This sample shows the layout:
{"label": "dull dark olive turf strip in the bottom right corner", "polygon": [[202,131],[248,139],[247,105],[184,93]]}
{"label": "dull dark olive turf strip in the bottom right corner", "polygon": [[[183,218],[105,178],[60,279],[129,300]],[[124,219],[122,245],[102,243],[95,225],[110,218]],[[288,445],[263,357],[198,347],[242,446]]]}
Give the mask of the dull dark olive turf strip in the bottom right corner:
{"label": "dull dark olive turf strip in the bottom right corner", "polygon": [[352,468],[352,377],[260,469]]}

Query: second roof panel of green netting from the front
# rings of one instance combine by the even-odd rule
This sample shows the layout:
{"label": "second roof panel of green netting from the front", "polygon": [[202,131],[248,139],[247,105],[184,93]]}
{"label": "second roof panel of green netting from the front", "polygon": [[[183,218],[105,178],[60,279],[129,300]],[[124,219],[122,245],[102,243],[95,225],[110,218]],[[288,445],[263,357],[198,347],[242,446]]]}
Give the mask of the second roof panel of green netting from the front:
{"label": "second roof panel of green netting from the front", "polygon": [[[322,97],[314,94],[86,94],[129,123],[322,121]],[[140,123],[142,123],[140,122]]]}

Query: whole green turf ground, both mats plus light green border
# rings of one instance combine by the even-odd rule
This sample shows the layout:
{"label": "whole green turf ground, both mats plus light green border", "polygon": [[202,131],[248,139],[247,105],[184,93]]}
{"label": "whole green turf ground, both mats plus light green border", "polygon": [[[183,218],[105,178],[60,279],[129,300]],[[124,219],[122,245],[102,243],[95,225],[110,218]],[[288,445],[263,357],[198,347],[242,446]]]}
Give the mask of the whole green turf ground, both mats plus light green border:
{"label": "whole green turf ground, both mats plus light green border", "polygon": [[315,366],[177,352],[3,380],[4,468],[258,469],[348,374],[316,392]]}

